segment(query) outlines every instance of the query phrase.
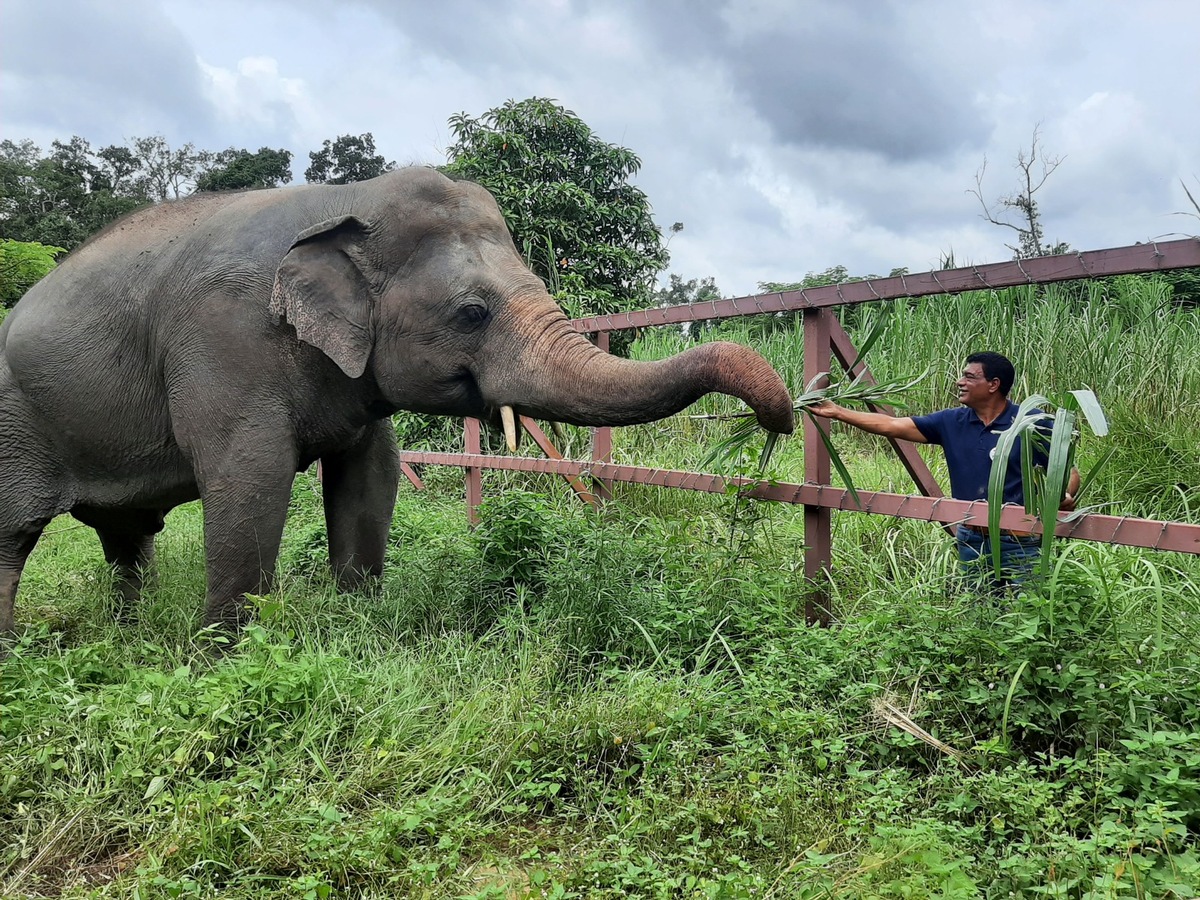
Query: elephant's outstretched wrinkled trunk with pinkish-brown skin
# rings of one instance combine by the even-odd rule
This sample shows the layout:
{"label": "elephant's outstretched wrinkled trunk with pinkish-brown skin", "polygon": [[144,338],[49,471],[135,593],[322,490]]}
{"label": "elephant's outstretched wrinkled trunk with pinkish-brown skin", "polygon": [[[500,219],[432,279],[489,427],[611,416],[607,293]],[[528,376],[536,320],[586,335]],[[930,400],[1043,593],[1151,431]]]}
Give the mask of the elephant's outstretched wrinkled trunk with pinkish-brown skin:
{"label": "elephant's outstretched wrinkled trunk with pinkish-brown skin", "polygon": [[[521,388],[506,403],[572,425],[640,425],[678,413],[706,394],[739,397],[768,431],[792,433],[792,397],[779,373],[749,347],[702,344],[665,360],[620,359],[563,322],[527,347]],[[502,391],[510,395],[510,391]]]}

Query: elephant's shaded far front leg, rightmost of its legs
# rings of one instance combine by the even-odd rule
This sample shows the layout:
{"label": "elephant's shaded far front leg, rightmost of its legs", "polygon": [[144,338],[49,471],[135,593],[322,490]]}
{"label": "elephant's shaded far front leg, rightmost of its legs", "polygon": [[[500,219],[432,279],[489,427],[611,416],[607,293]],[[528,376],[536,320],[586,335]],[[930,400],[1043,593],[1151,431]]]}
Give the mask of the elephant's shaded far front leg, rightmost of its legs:
{"label": "elephant's shaded far front leg, rightmost of its legs", "polygon": [[322,457],[320,467],[329,563],[338,587],[353,590],[383,574],[400,485],[391,420],[368,426],[358,444]]}

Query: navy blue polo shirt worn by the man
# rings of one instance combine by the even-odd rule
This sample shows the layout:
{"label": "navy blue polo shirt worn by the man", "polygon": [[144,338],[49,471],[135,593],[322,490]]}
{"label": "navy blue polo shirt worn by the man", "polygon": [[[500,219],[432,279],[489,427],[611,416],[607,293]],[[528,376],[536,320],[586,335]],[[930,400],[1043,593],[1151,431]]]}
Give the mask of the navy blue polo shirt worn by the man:
{"label": "navy blue polo shirt worn by the man", "polygon": [[[1008,401],[996,421],[984,426],[971,407],[940,409],[929,415],[912,418],[917,430],[930,444],[941,444],[946,454],[946,468],[950,473],[950,497],[958,500],[988,499],[988,479],[991,475],[991,458],[995,455],[1000,432],[1012,426],[1018,406]],[[1034,455],[1043,468],[1048,458],[1044,452]],[[1004,503],[1025,503],[1021,491],[1021,439],[1013,445],[1004,478]]]}

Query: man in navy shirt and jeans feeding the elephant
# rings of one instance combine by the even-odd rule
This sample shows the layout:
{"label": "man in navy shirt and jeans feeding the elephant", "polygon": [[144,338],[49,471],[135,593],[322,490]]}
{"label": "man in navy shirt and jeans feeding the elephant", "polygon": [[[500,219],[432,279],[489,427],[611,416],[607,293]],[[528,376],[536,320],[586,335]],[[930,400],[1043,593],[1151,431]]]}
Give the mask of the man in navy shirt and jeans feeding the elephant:
{"label": "man in navy shirt and jeans feeding the elephant", "polygon": [[[988,498],[991,460],[1000,432],[1016,418],[1018,404],[1008,398],[1015,372],[1013,364],[998,353],[973,353],[967,356],[958,380],[959,403],[929,415],[898,419],[882,413],[863,413],[823,401],[811,410],[815,415],[835,419],[856,428],[917,444],[941,444],[950,474],[950,496],[959,500]],[[1040,466],[1045,454],[1037,455]],[[1079,472],[1070,470],[1062,509],[1075,508]],[[1021,486],[1020,440],[1013,449],[1004,479],[1004,503],[1025,503]],[[964,571],[984,569],[990,572],[991,546],[988,529],[960,524],[955,534],[959,562]],[[1032,572],[1040,553],[1040,536],[1002,530],[1000,535],[1000,584],[1018,584]],[[983,571],[979,571],[983,575]]]}

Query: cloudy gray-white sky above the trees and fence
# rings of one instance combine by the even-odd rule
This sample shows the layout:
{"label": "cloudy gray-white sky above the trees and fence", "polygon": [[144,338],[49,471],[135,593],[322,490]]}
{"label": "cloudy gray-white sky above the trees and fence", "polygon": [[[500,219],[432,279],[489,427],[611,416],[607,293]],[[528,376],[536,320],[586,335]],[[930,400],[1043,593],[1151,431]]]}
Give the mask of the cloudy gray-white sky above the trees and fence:
{"label": "cloudy gray-white sky above the trees and fence", "polygon": [[4,0],[0,137],[286,148],[551,97],[642,160],[671,271],[726,294],[1010,257],[989,200],[1034,128],[1046,238],[1196,233],[1194,0]]}

